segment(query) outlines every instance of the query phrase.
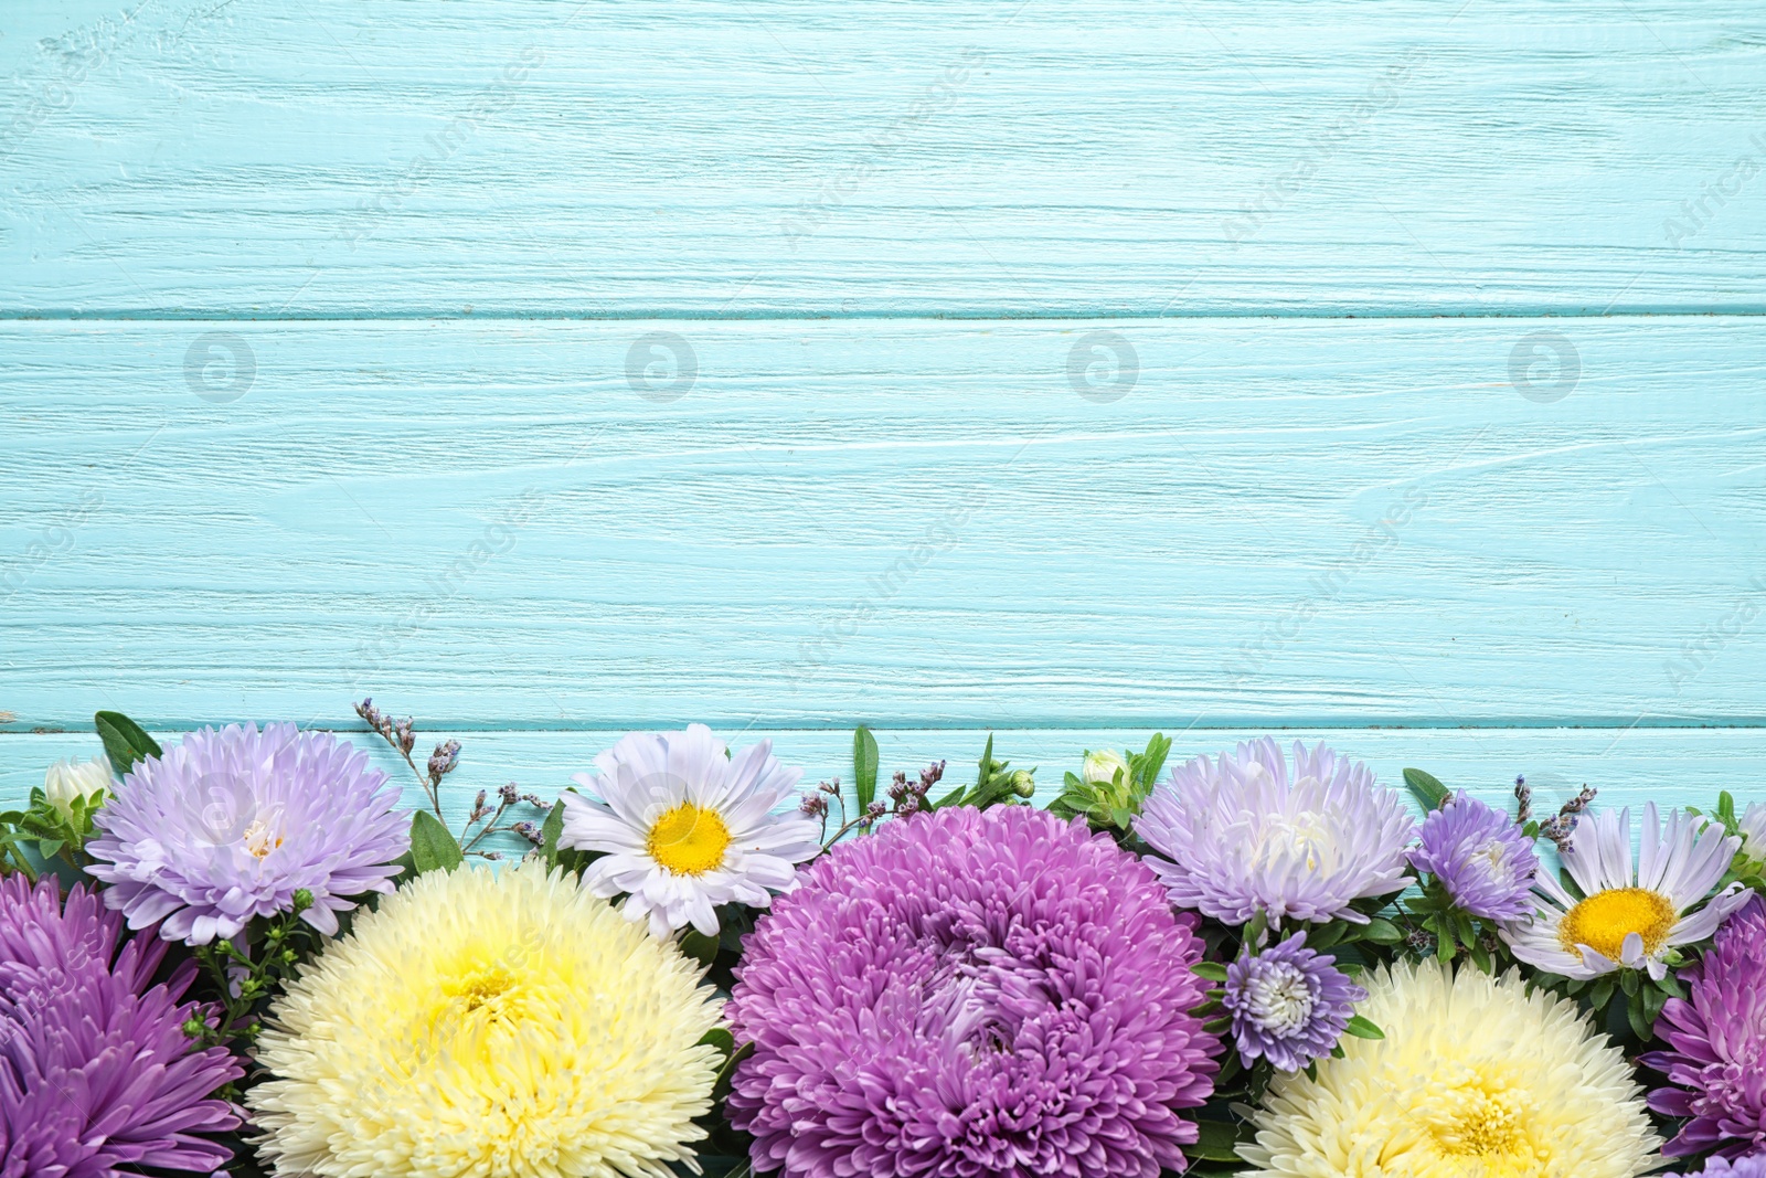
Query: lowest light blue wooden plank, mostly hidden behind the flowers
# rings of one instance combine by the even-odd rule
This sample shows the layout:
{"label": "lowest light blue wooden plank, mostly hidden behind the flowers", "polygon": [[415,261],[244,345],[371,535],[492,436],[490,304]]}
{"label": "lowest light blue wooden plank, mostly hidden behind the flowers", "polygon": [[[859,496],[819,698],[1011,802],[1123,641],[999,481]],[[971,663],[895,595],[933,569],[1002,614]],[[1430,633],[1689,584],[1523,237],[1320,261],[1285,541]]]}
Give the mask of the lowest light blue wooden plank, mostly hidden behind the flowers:
{"label": "lowest light blue wooden plank, mostly hidden behind the flowers", "polygon": [[[419,752],[449,733],[419,726]],[[173,740],[177,733],[157,733]],[[585,770],[593,756],[613,744],[611,731],[475,731],[457,733],[464,745],[461,768],[449,779],[445,804],[452,811],[472,805],[479,789],[496,789],[517,781],[525,791],[551,798],[570,784],[570,774]],[[1061,774],[1077,770],[1086,749],[1146,745],[1144,729],[1015,729],[994,733],[996,756],[1014,768],[1037,766],[1038,802],[1047,802],[1061,784]],[[1176,759],[1231,749],[1238,740],[1261,731],[1192,729],[1173,736]],[[1720,789],[1743,802],[1766,800],[1766,729],[1759,728],[1653,728],[1653,729],[1316,729],[1275,731],[1284,745],[1293,740],[1326,740],[1333,749],[1367,761],[1379,781],[1402,788],[1400,770],[1427,768],[1455,789],[1469,789],[1496,804],[1508,797],[1517,774],[1526,774],[1535,788],[1536,807],[1556,809],[1584,786],[1600,789],[1604,804],[1709,807]],[[848,731],[731,728],[719,731],[726,742],[742,747],[761,738],[774,740],[774,752],[788,765],[805,770],[805,784],[841,777],[851,782],[853,740]],[[366,731],[350,736],[374,749],[381,768],[397,781],[410,770]],[[917,774],[931,761],[947,761],[945,779],[973,782],[975,759],[987,733],[975,729],[879,731],[878,747],[883,781],[895,770]],[[92,733],[0,735],[0,804],[28,797],[42,784],[42,770],[64,756],[99,756],[102,745]],[[422,759],[422,758],[419,758]],[[415,793],[415,791],[413,791]]]}

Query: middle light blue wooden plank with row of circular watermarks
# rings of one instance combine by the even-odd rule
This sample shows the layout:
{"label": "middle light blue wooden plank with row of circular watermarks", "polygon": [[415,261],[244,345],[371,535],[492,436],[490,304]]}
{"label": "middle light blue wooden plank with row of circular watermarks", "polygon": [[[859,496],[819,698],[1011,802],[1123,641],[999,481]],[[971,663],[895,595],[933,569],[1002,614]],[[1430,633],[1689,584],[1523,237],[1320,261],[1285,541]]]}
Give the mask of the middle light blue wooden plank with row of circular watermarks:
{"label": "middle light blue wooden plank with row of circular watermarks", "polygon": [[14,729],[1766,717],[1761,320],[214,330],[0,325]]}

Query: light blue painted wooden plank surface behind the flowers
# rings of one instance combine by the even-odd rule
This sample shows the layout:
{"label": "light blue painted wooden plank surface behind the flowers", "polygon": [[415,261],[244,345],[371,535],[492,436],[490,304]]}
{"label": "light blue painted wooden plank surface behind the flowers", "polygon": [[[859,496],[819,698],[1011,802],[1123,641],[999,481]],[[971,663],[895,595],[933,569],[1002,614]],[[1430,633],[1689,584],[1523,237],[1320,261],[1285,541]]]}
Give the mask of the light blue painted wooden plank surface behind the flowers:
{"label": "light blue painted wooden plank surface behind the flowers", "polygon": [[1757,0],[12,0],[0,78],[0,795],[364,694],[463,789],[1766,795]]}

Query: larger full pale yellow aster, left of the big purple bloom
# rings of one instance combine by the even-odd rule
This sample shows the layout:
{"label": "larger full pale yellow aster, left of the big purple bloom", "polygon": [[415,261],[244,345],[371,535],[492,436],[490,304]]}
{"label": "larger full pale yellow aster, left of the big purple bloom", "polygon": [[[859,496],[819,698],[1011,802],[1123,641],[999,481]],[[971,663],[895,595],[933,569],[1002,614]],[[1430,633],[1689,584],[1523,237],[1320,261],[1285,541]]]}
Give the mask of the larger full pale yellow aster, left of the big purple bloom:
{"label": "larger full pale yellow aster, left of the big purple bloom", "polygon": [[539,862],[433,871],[270,1008],[245,1097],[300,1178],[669,1178],[721,1056],[699,968]]}

